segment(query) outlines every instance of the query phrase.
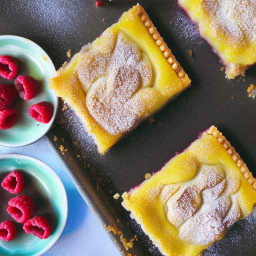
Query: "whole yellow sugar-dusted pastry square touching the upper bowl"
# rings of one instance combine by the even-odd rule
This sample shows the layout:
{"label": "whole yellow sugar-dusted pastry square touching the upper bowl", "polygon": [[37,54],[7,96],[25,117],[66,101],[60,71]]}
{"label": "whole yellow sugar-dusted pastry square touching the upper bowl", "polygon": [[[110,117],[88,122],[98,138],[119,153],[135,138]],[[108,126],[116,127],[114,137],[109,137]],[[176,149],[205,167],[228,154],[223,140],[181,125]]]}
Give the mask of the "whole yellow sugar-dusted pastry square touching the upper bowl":
{"label": "whole yellow sugar-dusted pastry square touching the upper bowl", "polygon": [[49,81],[50,88],[85,123],[100,153],[189,84],[138,4],[64,63]]}

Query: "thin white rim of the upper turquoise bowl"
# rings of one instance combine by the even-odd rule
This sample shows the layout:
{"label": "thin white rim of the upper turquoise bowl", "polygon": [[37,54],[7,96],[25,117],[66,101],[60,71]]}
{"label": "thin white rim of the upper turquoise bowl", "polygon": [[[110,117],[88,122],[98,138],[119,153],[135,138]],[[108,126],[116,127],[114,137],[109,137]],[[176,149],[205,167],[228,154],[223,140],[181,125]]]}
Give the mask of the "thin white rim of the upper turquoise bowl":
{"label": "thin white rim of the upper turquoise bowl", "polygon": [[[56,75],[56,68],[52,62],[52,60],[50,59],[49,55],[45,52],[45,50],[39,46],[37,43],[35,43],[34,41],[28,39],[28,38],[25,38],[25,37],[22,37],[22,36],[18,36],[18,35],[10,35],[10,34],[3,34],[3,35],[0,35],[0,40],[1,39],[15,39],[15,40],[19,40],[19,41],[22,41],[22,42],[25,42],[25,43],[30,43],[32,44],[33,46],[37,47],[38,49],[40,49],[42,52],[43,52],[43,55],[46,57],[47,59],[47,62],[49,63],[49,65],[51,66],[52,70],[53,70],[53,73],[54,75]],[[58,110],[58,104],[59,104],[59,101],[58,101],[58,97],[56,95],[56,93],[51,90],[53,93],[52,93],[52,96],[53,96],[53,101],[54,101],[54,109],[53,109],[53,115],[51,117],[51,120],[50,120],[50,124],[49,126],[47,127],[47,129],[45,129],[45,131],[40,134],[36,139],[34,139],[33,141],[29,141],[28,143],[15,143],[15,144],[10,144],[10,143],[5,143],[5,142],[2,142],[0,141],[0,146],[7,146],[7,147],[19,147],[19,146],[26,146],[26,145],[30,145],[36,141],[38,141],[40,138],[42,138],[52,127],[53,123],[54,123],[54,120],[56,118],[56,114],[57,114],[57,110]]]}

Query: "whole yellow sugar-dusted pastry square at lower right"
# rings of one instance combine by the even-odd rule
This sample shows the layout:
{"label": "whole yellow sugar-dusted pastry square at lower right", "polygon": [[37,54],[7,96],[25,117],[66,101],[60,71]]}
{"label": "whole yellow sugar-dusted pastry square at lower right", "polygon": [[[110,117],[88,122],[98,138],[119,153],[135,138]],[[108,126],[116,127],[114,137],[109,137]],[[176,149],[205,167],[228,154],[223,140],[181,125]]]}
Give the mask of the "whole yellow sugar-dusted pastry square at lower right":
{"label": "whole yellow sugar-dusted pastry square at lower right", "polygon": [[124,192],[122,205],[163,255],[197,256],[251,213],[255,189],[246,164],[211,126],[160,171]]}

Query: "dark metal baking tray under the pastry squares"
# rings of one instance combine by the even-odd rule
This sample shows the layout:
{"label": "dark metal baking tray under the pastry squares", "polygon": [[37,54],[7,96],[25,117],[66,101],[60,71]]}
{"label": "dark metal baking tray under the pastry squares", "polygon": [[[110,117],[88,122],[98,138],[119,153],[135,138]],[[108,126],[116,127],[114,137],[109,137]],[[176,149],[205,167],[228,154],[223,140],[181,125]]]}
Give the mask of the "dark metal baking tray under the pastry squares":
{"label": "dark metal baking tray under the pastry squares", "polygon": [[[67,60],[67,49],[79,51],[136,3],[112,0],[97,8],[94,0],[1,0],[0,34],[35,41],[58,68]],[[174,0],[140,0],[140,4],[192,79],[192,86],[156,113],[155,122],[144,121],[103,156],[97,153],[72,110],[61,104],[56,125],[47,137],[56,158],[102,224],[116,224],[127,240],[137,234],[138,240],[129,250],[132,255],[160,255],[113,194],[143,181],[146,172],[160,168],[211,124],[227,136],[253,172],[256,100],[248,98],[246,88],[256,81],[256,66],[247,71],[245,78],[225,79],[210,46],[198,37]],[[192,50],[192,57],[188,50]],[[236,223],[204,255],[255,255],[255,219],[253,213]],[[109,235],[127,255],[118,235]]]}

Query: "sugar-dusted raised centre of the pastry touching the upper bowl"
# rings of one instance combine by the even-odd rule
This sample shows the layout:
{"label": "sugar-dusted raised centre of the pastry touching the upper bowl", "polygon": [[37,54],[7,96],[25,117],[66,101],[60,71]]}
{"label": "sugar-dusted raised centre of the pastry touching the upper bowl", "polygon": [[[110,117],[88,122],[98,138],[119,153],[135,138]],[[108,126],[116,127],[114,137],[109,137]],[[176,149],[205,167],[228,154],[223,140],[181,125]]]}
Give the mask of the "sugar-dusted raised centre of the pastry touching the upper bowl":
{"label": "sugar-dusted raised centre of the pastry touching the upper bowl", "polygon": [[88,111],[107,132],[118,134],[143,116],[145,105],[136,92],[152,85],[152,69],[147,56],[122,32],[116,43],[110,31],[103,36],[108,39],[106,47],[87,48],[88,52],[85,48],[76,70],[87,92]]}

